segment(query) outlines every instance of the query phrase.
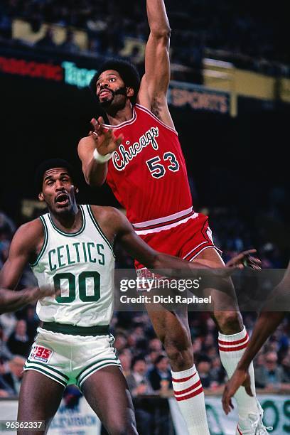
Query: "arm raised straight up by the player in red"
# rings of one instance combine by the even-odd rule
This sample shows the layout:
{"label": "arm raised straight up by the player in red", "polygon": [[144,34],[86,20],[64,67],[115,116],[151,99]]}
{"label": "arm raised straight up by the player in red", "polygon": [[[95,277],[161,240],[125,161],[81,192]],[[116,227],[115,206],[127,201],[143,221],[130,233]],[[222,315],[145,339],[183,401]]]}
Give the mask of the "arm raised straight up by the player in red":
{"label": "arm raised straight up by the player in red", "polygon": [[145,50],[145,75],[137,102],[150,109],[168,127],[174,128],[166,97],[170,80],[171,28],[163,0],[147,0],[146,6],[150,34]]}

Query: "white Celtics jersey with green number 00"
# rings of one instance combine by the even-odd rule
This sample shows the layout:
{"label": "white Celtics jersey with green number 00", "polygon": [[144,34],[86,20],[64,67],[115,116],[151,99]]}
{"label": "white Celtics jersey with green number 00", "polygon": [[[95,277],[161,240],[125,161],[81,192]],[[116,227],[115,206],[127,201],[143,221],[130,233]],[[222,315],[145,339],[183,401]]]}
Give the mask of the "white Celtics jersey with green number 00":
{"label": "white Celtics jersey with green number 00", "polygon": [[41,216],[45,237],[34,264],[38,286],[58,286],[60,296],[38,301],[41,321],[107,326],[113,313],[114,253],[90,205],[80,205],[82,227],[68,234]]}

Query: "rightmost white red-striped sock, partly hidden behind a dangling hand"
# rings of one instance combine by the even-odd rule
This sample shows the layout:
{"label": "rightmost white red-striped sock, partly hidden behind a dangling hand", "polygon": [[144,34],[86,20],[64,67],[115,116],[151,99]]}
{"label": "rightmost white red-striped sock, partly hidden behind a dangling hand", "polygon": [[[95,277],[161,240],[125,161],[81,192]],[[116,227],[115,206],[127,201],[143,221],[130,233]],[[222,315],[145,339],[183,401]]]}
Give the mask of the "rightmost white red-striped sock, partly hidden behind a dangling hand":
{"label": "rightmost white red-striped sock, partly hidden behind a dangling hand", "polygon": [[[227,371],[227,376],[230,378],[232,373],[237,367],[242,358],[245,349],[247,348],[247,343],[249,341],[249,335],[247,335],[246,328],[242,329],[240,333],[225,335],[218,333],[218,347],[220,350],[220,360],[222,365]],[[239,416],[242,418],[248,418],[248,414],[258,414],[256,390],[254,386],[254,367],[253,363],[249,366],[249,376],[251,378],[251,390],[254,397],[247,394],[245,387],[240,387],[235,394],[235,399],[237,401],[237,408]]]}

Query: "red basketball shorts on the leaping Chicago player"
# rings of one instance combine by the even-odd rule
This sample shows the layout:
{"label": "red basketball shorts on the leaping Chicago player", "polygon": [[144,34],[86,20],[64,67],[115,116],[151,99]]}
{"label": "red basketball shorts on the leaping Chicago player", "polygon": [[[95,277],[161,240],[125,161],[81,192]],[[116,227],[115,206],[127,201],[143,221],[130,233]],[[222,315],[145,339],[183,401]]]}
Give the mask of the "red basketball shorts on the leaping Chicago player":
{"label": "red basketball shorts on the leaping Chicago player", "polygon": [[[213,242],[212,232],[208,226],[208,216],[202,213],[195,213],[194,217],[187,222],[169,230],[151,232],[139,235],[139,237],[156,251],[174,255],[188,262],[208,248],[215,248],[221,253]],[[135,260],[135,267],[137,270],[145,268],[137,260]]]}

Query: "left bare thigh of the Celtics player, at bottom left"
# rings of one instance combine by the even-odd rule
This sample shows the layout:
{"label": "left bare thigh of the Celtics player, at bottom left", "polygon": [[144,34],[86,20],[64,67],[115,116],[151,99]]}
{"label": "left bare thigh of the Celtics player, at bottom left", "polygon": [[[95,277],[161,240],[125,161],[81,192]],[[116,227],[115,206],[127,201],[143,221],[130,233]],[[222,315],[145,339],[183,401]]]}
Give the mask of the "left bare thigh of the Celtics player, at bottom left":
{"label": "left bare thigh of the Celtics player, at bottom left", "polygon": [[[58,410],[65,388],[35,370],[24,372],[18,404],[18,420],[45,421],[45,432]],[[43,431],[18,430],[18,434],[43,434]]]}

